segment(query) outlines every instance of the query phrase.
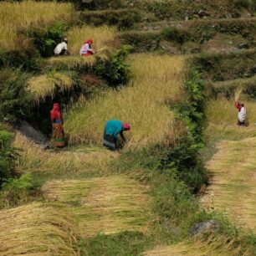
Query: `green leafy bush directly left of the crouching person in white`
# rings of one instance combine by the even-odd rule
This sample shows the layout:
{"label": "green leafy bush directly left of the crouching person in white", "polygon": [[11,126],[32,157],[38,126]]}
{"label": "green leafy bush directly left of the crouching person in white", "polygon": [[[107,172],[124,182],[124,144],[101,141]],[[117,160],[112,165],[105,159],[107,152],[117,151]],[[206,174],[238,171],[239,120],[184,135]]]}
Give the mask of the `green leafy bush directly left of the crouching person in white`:
{"label": "green leafy bush directly left of the crouching person in white", "polygon": [[63,23],[54,23],[49,27],[36,27],[28,31],[28,37],[33,38],[33,44],[42,57],[54,54],[54,48],[64,39],[68,26]]}

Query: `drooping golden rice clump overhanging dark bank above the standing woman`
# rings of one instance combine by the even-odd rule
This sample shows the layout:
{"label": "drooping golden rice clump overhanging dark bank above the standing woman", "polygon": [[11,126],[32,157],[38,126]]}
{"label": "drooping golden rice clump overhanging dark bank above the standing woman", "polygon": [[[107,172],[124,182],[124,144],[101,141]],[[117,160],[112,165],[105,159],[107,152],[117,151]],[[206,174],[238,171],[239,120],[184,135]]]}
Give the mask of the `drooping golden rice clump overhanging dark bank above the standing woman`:
{"label": "drooping golden rice clump overhanging dark bank above the standing woman", "polygon": [[28,80],[28,90],[32,95],[33,101],[39,103],[47,96],[54,97],[54,91],[58,86],[60,91],[70,90],[74,81],[66,74],[42,74],[34,76]]}

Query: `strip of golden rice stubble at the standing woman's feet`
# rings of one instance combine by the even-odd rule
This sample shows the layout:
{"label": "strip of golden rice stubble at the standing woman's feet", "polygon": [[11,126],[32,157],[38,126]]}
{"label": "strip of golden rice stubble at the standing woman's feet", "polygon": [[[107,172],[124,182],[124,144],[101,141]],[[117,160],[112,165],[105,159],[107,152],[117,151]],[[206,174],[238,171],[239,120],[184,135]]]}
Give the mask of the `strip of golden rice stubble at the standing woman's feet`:
{"label": "strip of golden rice stubble at the standing woman's feet", "polygon": [[107,172],[108,163],[118,156],[105,149],[80,148],[74,151],[44,151],[17,133],[14,146],[22,148],[18,172]]}

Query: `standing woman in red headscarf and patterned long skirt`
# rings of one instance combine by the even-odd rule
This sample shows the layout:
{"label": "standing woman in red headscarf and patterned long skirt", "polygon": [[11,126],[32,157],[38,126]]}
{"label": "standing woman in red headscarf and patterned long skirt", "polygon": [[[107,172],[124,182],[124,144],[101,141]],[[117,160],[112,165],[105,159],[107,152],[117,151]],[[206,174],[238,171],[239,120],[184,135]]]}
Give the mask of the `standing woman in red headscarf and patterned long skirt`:
{"label": "standing woman in red headscarf and patterned long skirt", "polygon": [[50,116],[53,125],[53,137],[54,144],[57,147],[63,147],[64,143],[64,129],[63,129],[63,120],[59,110],[59,103],[54,103],[53,109],[50,111]]}

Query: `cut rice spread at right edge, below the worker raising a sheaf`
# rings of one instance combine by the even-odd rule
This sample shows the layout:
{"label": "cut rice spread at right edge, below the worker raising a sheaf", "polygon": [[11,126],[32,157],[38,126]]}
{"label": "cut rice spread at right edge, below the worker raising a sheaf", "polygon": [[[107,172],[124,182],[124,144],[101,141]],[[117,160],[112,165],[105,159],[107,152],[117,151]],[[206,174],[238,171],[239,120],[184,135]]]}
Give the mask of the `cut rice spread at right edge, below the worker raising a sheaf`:
{"label": "cut rice spread at right edge, below the worker raising a sheaf", "polygon": [[256,138],[223,141],[207,163],[212,185],[205,207],[227,212],[238,225],[256,230]]}

